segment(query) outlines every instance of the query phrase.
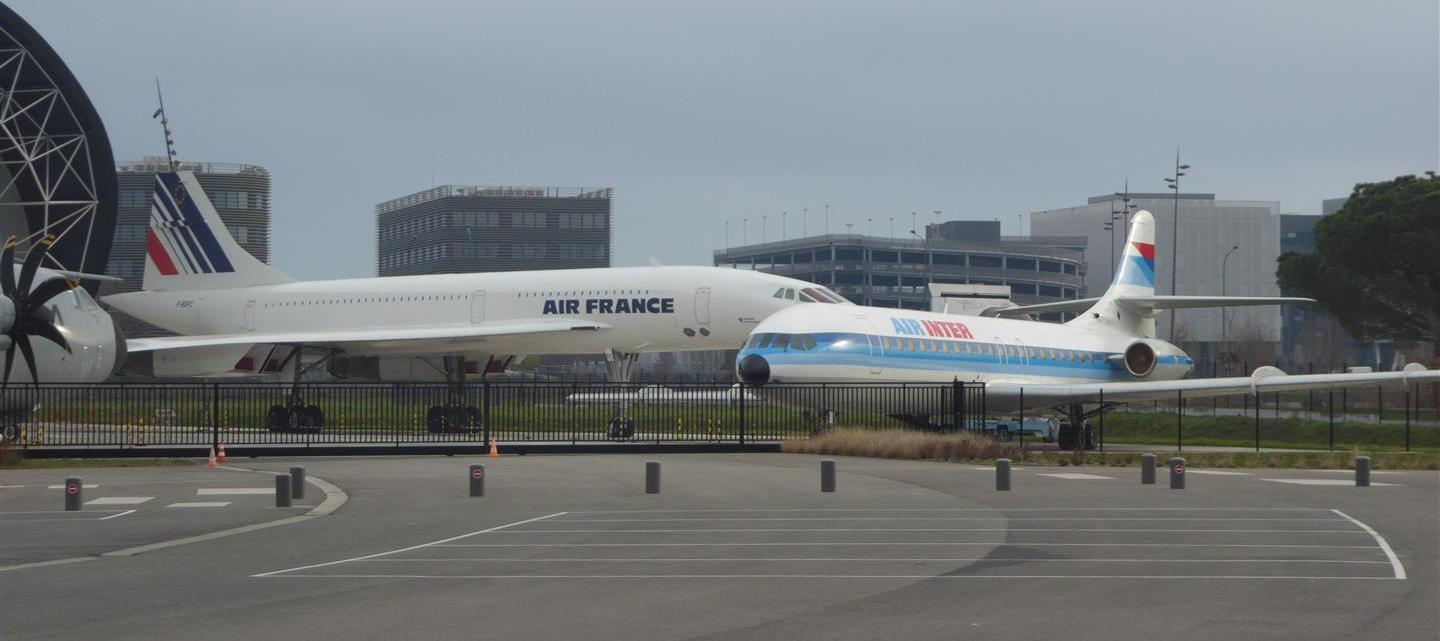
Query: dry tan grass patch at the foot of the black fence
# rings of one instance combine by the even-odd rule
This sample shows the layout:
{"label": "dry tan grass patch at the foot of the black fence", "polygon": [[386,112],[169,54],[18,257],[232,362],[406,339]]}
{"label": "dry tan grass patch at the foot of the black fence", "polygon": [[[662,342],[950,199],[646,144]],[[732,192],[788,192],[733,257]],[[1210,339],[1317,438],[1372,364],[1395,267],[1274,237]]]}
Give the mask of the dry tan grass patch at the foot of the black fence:
{"label": "dry tan grass patch at the foot of the black fence", "polygon": [[932,434],[857,428],[835,428],[811,438],[785,441],[780,444],[780,451],[932,461],[1020,458],[1021,454],[1017,445],[971,432]]}

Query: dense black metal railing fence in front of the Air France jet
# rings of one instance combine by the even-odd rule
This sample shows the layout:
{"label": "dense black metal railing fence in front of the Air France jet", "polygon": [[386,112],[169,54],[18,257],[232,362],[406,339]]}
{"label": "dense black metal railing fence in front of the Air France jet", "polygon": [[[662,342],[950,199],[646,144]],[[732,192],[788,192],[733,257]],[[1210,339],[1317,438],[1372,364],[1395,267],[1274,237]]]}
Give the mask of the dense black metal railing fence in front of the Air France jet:
{"label": "dense black metal railing fence in front of the Air France jet", "polygon": [[[12,387],[4,425],[30,451],[547,444],[752,445],[832,425],[981,429],[985,390],[943,385],[477,382],[118,383]],[[360,449],[356,449],[360,451]]]}

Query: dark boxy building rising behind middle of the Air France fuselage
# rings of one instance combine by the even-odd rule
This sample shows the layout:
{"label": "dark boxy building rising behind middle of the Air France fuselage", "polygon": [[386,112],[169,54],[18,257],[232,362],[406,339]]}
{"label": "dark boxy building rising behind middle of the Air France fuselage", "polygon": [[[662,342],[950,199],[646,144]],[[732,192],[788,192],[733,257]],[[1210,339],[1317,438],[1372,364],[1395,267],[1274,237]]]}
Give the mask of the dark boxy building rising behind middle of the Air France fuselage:
{"label": "dark boxy building rising behind middle of the Air France fuselage", "polygon": [[444,184],[374,207],[376,274],[611,266],[611,187]]}

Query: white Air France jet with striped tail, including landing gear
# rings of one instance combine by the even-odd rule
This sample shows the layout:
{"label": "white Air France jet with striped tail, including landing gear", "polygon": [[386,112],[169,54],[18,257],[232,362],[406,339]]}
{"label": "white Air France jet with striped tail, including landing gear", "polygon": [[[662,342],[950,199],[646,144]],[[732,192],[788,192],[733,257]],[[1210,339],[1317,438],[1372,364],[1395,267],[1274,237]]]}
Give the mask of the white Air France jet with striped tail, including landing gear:
{"label": "white Air France jet with striped tail, including landing gear", "polygon": [[[236,245],[189,171],[157,174],[147,242],[143,291],[102,298],[181,334],[130,340],[147,373],[284,370],[298,383],[327,364],[347,377],[444,379],[448,402],[428,413],[438,431],[478,423],[467,375],[527,354],[606,354],[612,377],[628,380],[638,353],[737,349],[780,308],[847,304],[815,284],[713,266],[294,281]],[[272,429],[324,423],[298,390],[271,408]]]}

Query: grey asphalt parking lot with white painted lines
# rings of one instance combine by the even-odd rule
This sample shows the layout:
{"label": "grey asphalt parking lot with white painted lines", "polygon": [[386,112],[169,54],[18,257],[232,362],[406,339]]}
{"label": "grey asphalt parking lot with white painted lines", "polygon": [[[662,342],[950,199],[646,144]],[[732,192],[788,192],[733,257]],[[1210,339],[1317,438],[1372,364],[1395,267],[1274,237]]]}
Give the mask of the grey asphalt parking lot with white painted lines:
{"label": "grey asphalt parking lot with white painted lines", "polygon": [[[648,458],[662,462],[661,494],[644,494]],[[467,496],[471,462],[487,465],[485,497]],[[837,493],[822,494],[818,458],[783,454],[302,464],[344,490],[343,508],[137,556],[0,572],[4,637],[1440,634],[1433,471],[1377,471],[1372,487],[1356,488],[1335,471],[1192,468],[1185,490],[1169,490],[1164,470],[1159,484],[1140,485],[1136,468],[1025,467],[999,493],[979,465],[838,458]],[[206,483],[216,471],[125,472],[183,477],[176,485],[193,497],[192,475]],[[86,497],[109,483],[98,474],[82,474],[99,478]],[[24,490],[3,490],[0,520],[29,511],[10,496]],[[141,508],[187,510],[158,507],[184,491],[124,490],[156,496]],[[45,539],[71,527],[98,550],[104,532],[82,529],[143,516],[0,526],[0,553],[46,556]],[[171,527],[158,516],[131,523]],[[42,524],[39,540],[14,542],[12,532]]]}

